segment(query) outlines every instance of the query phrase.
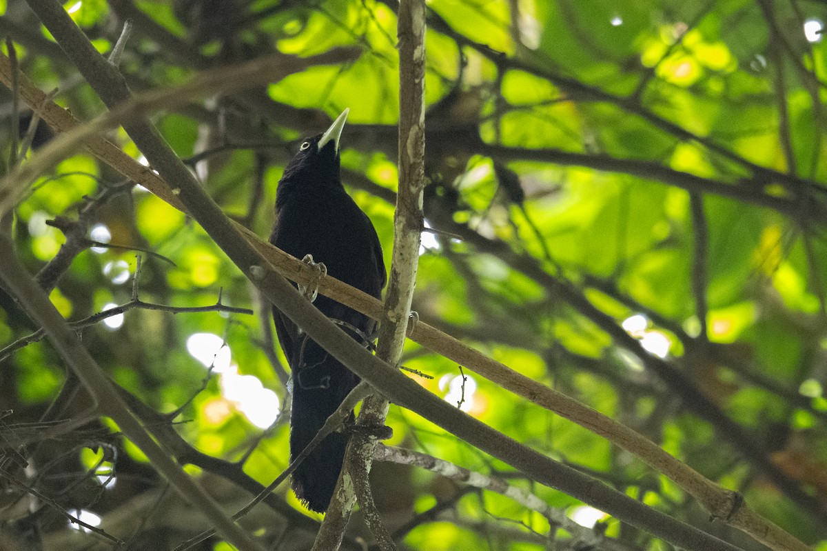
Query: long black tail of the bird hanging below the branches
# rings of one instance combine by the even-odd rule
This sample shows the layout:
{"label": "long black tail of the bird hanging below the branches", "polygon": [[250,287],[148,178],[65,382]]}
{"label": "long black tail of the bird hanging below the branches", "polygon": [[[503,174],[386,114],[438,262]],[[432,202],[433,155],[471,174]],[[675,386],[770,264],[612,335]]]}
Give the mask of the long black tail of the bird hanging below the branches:
{"label": "long black tail of the bird hanging below the branches", "polygon": [[[293,405],[290,416],[290,460],[322,429],[327,418],[356,386],[356,376],[304,338],[294,354]],[[352,413],[351,413],[352,416]],[[349,436],[328,434],[293,473],[293,490],[308,509],[323,513],[336,489]]]}

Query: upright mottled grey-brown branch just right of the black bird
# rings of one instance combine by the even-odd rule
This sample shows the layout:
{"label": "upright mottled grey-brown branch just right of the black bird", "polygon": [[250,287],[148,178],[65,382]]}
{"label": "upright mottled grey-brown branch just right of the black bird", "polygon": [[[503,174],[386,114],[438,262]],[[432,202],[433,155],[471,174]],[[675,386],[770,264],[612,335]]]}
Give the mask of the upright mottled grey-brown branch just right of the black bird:
{"label": "upright mottled grey-brown branch just right of the black bird", "polygon": [[[380,319],[376,355],[396,365],[402,354],[419,261],[423,228],[422,192],[425,186],[425,2],[399,2],[399,193],[394,213],[394,253],[385,308]],[[365,400],[358,423],[377,427],[385,423],[388,401],[380,396]],[[350,511],[358,498],[370,510],[368,473],[376,446],[375,436],[357,432],[347,447],[342,475],[327,509],[313,549],[338,549]],[[356,491],[355,491],[356,489]],[[376,519],[375,519],[376,520]],[[380,541],[390,535],[378,522],[371,529]]]}

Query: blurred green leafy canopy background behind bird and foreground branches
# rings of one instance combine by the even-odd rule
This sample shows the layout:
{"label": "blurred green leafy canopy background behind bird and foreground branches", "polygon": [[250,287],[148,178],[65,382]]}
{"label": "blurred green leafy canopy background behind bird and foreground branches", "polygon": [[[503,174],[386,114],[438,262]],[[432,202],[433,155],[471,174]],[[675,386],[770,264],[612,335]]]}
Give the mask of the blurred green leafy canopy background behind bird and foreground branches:
{"label": "blurred green leafy canopy background behind bird and foreground branches", "polygon": [[[9,66],[55,90],[79,120],[103,113],[26,3],[0,5]],[[65,8],[106,55],[131,20],[118,66],[136,93],[276,51],[341,52],[268,85],[166,98],[147,116],[224,213],[266,237],[285,162],[350,108],[342,179],[390,267],[397,2]],[[825,19],[815,0],[429,2],[427,228],[414,295],[423,323],[638,431],[822,551]],[[351,49],[334,50],[342,46]],[[25,85],[21,76],[0,90],[7,173],[57,132],[43,122],[29,132],[31,107],[10,92]],[[105,135],[146,164],[122,129]],[[13,206],[0,229],[17,257],[170,457],[231,511],[272,482],[288,465],[289,373],[269,304],[208,234],[83,150]],[[208,528],[90,410],[12,295],[0,291],[0,547],[113,549],[117,539],[174,549]],[[473,366],[411,341],[402,362],[418,384],[528,448],[741,549],[764,549],[710,523],[633,454]],[[586,540],[671,549],[409,410],[391,405],[388,424],[386,445],[498,477],[543,504],[494,483],[476,488],[467,473],[378,461],[375,504],[400,549],[586,549]],[[601,524],[577,529],[555,511]],[[309,549],[320,517],[306,513],[282,484],[241,522],[270,549]],[[359,515],[345,547],[360,549],[357,538],[373,544]],[[216,536],[197,549],[230,548]]]}

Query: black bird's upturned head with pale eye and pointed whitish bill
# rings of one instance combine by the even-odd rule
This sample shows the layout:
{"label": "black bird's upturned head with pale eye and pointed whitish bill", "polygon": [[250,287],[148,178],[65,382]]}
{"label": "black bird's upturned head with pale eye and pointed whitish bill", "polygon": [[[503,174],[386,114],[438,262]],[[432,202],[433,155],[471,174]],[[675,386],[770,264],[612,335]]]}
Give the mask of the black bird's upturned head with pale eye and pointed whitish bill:
{"label": "black bird's upturned head with pale eye and pointed whitish bill", "polygon": [[280,184],[290,183],[297,186],[314,186],[339,184],[339,137],[345,127],[347,113],[345,109],[327,131],[302,141],[299,152],[284,168]]}

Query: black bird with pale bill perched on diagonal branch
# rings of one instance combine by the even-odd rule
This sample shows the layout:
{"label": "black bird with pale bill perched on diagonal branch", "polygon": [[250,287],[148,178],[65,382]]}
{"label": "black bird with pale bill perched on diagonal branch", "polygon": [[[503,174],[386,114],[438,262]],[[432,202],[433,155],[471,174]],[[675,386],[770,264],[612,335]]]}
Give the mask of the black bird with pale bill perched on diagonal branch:
{"label": "black bird with pale bill perched on diagonal branch", "polygon": [[[323,263],[328,275],[378,299],[387,280],[379,237],[370,218],[345,191],[339,173],[339,137],[347,112],[345,109],[327,132],[304,140],[284,169],[275,195],[275,228],[270,242],[297,258]],[[372,319],[326,296],[318,295],[314,304],[351,337],[369,345],[375,329]],[[292,461],[359,378],[278,309],[273,309],[273,319],[293,377]],[[293,490],[308,509],[327,510],[342,470],[347,439],[347,434],[328,435],[293,473]]]}

